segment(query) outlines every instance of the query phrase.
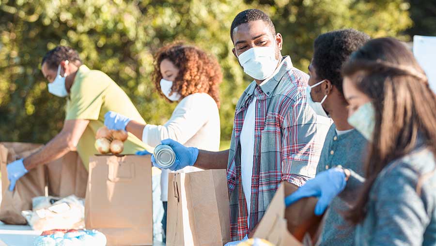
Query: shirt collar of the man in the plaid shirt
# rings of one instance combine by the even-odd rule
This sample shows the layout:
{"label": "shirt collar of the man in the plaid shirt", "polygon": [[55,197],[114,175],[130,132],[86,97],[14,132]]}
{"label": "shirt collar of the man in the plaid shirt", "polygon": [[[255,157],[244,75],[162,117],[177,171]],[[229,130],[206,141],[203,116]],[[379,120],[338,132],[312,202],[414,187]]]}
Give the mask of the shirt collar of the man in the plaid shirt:
{"label": "shirt collar of the man in the plaid shirt", "polygon": [[[291,70],[294,66],[292,65],[291,58],[289,56],[285,56],[281,59],[281,62],[277,69],[273,72],[271,76],[266,78],[259,86],[261,87],[262,91],[269,96],[271,92],[277,87],[279,84],[281,78],[283,75]],[[256,81],[251,82],[251,87],[249,88],[249,91],[247,92],[247,96],[251,96],[254,93],[254,90],[256,89],[257,84]]]}

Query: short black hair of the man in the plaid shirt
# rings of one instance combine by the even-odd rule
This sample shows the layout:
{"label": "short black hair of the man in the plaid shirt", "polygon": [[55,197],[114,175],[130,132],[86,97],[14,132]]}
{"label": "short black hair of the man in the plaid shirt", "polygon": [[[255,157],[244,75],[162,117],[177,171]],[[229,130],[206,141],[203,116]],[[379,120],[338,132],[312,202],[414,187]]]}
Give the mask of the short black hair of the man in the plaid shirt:
{"label": "short black hair of the man in the plaid shirt", "polygon": [[251,21],[257,21],[257,20],[264,21],[265,25],[268,27],[271,33],[274,36],[276,35],[276,28],[274,27],[274,24],[272,23],[268,14],[265,14],[265,12],[259,9],[247,9],[237,14],[236,17],[234,17],[233,19],[232,26],[230,27],[230,38],[232,39],[232,41],[233,41],[233,30],[236,27],[238,27],[241,24],[249,23]]}

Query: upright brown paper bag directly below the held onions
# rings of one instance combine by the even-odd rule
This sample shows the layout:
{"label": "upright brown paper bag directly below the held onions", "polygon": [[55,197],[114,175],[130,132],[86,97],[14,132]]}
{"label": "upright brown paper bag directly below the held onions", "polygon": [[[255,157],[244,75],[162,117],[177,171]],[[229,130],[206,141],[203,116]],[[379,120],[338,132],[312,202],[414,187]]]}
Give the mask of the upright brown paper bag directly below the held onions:
{"label": "upright brown paper bag directly below the held onions", "polygon": [[108,239],[108,246],[153,243],[150,156],[90,158],[85,225]]}

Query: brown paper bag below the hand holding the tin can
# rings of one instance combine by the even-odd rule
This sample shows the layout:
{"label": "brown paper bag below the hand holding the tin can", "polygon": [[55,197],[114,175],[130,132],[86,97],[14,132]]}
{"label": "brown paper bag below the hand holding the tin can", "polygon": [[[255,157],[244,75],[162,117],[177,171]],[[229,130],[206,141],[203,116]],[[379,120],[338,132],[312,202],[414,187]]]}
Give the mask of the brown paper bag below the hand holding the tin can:
{"label": "brown paper bag below the hand holding the tin can", "polygon": [[222,246],[229,241],[226,170],[171,173],[167,246]]}

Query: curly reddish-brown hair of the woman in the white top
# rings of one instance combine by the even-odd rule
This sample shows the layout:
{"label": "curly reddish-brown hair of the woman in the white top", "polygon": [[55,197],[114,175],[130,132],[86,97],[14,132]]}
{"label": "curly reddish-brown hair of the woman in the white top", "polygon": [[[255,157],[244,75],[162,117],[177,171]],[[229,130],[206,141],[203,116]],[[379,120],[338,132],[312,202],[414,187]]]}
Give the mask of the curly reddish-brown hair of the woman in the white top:
{"label": "curly reddish-brown hair of the woman in the white top", "polygon": [[160,89],[162,79],[160,63],[164,59],[169,59],[179,69],[171,93],[178,92],[182,98],[194,93],[207,93],[219,107],[219,84],[222,81],[222,72],[214,56],[195,46],[180,42],[160,48],[155,55],[153,82],[163,97],[165,96]]}

